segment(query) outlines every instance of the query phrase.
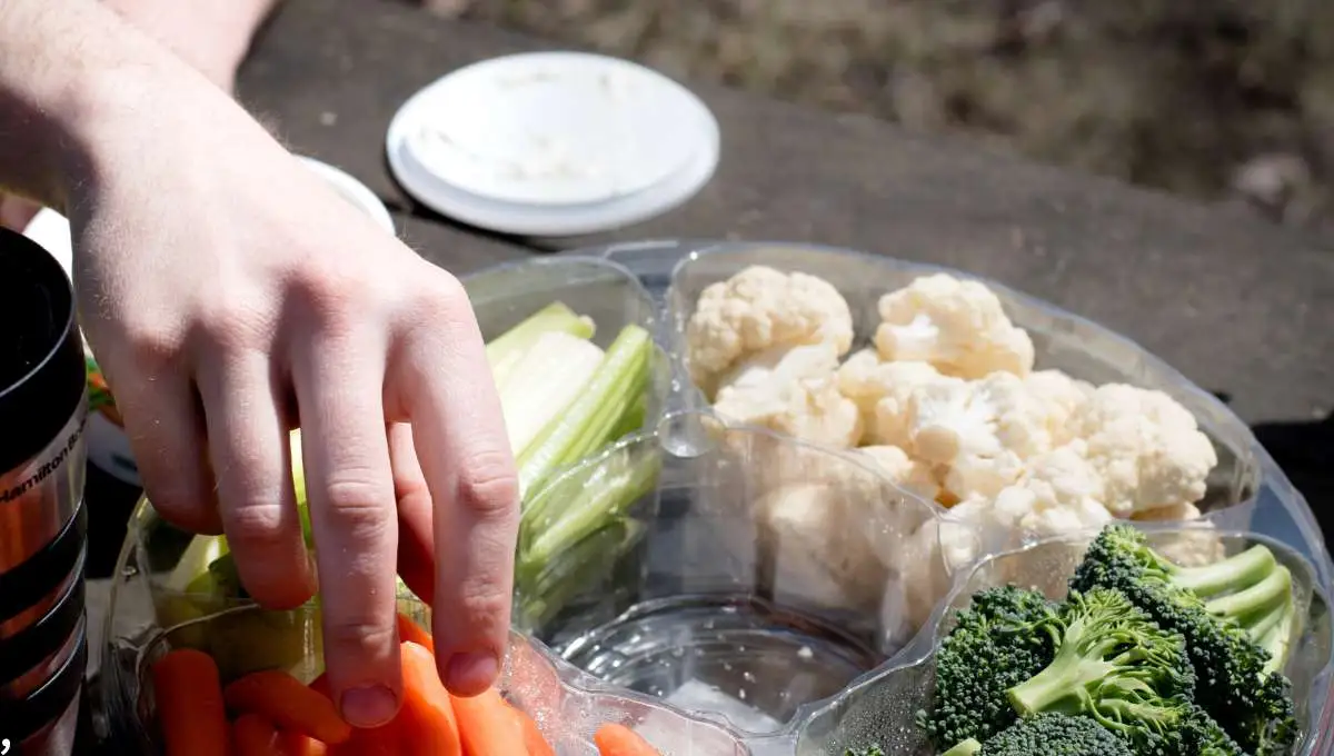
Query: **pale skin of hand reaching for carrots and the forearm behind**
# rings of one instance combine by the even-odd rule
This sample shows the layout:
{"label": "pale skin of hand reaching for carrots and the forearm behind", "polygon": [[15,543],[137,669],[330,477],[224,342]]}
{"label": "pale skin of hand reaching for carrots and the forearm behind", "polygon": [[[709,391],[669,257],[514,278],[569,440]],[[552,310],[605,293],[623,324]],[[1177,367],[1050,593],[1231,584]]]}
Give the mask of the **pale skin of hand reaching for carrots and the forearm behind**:
{"label": "pale skin of hand reaching for carrots and the forearm behind", "polygon": [[327,587],[352,724],[399,705],[395,572],[438,609],[442,679],[482,692],[508,632],[518,487],[463,288],[346,212],[227,95],[268,0],[111,3],[124,17],[0,3],[0,187],[71,219],[81,323],[149,497],[225,532],[260,603]]}

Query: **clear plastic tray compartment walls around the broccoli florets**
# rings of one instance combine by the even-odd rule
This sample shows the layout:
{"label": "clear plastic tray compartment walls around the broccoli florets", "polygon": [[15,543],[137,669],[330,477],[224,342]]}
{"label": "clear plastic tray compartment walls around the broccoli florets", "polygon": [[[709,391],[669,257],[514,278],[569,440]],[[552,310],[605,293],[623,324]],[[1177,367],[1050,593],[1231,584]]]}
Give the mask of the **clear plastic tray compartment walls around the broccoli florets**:
{"label": "clear plastic tray compartment walls around the broccoli florets", "polygon": [[[1293,681],[1302,740],[1301,755],[1327,753],[1330,723],[1322,712],[1334,677],[1334,635],[1329,593],[1315,585],[1311,564],[1294,549],[1262,535],[1205,532],[1170,525],[1149,531],[1150,543],[1162,548],[1178,539],[1214,537],[1226,553],[1262,543],[1293,572],[1298,623],[1285,672]],[[932,631],[894,664],[848,688],[815,711],[796,733],[799,756],[842,756],[847,748],[879,744],[891,756],[927,756],[934,751],[915,727],[915,713],[934,693],[934,649],[952,627],[954,611],[964,608],[972,593],[995,585],[1015,584],[1042,591],[1053,599],[1066,595],[1066,581],[1083,559],[1087,537],[1043,540],[1022,549],[987,557],[960,581],[936,617]]]}

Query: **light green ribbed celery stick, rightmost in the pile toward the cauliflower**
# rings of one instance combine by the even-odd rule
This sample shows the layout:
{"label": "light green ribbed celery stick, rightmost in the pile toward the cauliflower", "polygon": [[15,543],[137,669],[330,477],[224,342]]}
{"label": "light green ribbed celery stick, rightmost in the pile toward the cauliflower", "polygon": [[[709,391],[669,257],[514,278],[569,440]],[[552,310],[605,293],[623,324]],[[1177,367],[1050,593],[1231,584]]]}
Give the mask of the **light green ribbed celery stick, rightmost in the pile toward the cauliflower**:
{"label": "light green ribbed celery stick, rightmost in the pile toward the cauliflower", "polygon": [[[638,325],[627,325],[607,348],[587,389],[519,457],[520,499],[534,491],[562,465],[588,456],[607,443],[607,435],[638,400],[642,391],[652,339]],[[600,429],[600,435],[599,435]]]}

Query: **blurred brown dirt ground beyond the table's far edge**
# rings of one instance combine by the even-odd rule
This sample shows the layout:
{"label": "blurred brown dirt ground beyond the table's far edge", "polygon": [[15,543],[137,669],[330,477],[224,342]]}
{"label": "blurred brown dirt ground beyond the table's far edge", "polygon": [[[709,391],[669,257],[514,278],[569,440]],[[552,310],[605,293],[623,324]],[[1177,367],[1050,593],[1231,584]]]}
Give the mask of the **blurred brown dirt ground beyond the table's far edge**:
{"label": "blurred brown dirt ground beyond the table's far edge", "polygon": [[404,0],[1334,239],[1334,0]]}

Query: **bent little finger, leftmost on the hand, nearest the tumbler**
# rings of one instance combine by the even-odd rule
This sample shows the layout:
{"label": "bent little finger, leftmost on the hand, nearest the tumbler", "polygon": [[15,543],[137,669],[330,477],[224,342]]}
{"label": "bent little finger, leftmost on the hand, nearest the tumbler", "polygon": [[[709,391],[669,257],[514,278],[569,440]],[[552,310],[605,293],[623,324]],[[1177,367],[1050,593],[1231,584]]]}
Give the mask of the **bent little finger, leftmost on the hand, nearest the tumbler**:
{"label": "bent little finger, leftmost on the hand, nearest the tumbler", "polygon": [[[220,535],[213,475],[204,440],[203,411],[181,373],[144,372],[103,363],[144,492],[164,520],[192,533]],[[121,380],[121,376],[124,380]]]}

